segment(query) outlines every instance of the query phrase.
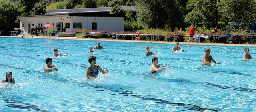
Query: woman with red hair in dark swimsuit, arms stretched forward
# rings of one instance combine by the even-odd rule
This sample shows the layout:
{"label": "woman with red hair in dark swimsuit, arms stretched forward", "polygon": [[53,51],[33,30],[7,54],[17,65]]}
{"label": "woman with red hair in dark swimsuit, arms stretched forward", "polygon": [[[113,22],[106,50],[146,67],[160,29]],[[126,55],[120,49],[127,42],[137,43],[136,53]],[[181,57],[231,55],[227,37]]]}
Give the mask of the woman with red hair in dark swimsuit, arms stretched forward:
{"label": "woman with red hair in dark swimsuit, arms stretched forward", "polygon": [[153,57],[153,58],[152,58],[152,63],[153,63],[153,64],[152,64],[151,67],[150,67],[150,73],[152,73],[152,74],[158,73],[158,72],[160,72],[160,71],[162,71],[162,70],[164,70],[164,69],[170,67],[170,65],[168,65],[168,66],[166,66],[166,67],[161,68],[161,66],[158,65],[158,58],[157,58],[157,57]]}

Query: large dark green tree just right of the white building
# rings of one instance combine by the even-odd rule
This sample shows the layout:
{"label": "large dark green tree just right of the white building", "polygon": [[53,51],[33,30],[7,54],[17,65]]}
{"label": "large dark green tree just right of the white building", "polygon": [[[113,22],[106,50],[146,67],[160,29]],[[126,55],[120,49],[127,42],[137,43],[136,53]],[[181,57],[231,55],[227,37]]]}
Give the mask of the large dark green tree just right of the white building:
{"label": "large dark green tree just right of the white building", "polygon": [[138,22],[144,28],[181,28],[184,8],[180,0],[137,0]]}

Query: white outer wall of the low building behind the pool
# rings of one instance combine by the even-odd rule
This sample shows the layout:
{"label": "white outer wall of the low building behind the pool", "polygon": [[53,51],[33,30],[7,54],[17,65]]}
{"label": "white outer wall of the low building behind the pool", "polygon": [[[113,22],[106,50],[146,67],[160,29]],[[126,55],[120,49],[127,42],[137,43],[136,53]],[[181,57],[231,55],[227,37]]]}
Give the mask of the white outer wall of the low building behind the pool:
{"label": "white outer wall of the low building behind the pool", "polygon": [[[68,17],[68,18],[67,18]],[[61,20],[62,18],[62,20]],[[20,19],[20,29],[24,31],[25,34],[28,33],[28,23],[32,27],[38,27],[38,23],[43,25],[49,23],[53,24],[54,28],[57,28],[58,22],[63,22],[63,28],[65,23],[70,23],[70,28],[66,28],[66,33],[72,33],[74,30],[88,29],[92,30],[92,22],[97,22],[97,31],[124,31],[124,18],[123,17],[69,17],[67,15],[62,16],[36,16],[36,17],[19,17]],[[82,22],[82,28],[74,28],[73,22]],[[24,28],[22,28],[24,24]],[[34,26],[32,26],[34,24]],[[47,28],[46,28],[47,29]]]}

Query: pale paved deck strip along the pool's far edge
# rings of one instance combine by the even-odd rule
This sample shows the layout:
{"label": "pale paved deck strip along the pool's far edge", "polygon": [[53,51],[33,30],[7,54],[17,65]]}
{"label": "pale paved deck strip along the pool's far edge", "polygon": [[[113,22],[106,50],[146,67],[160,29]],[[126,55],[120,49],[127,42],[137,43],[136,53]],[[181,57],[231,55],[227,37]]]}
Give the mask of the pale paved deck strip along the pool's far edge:
{"label": "pale paved deck strip along the pool's far edge", "polygon": [[[0,36],[0,37],[18,37],[19,36]],[[24,38],[31,38],[30,34],[26,34]],[[121,39],[97,39],[97,38],[77,38],[77,37],[54,37],[54,36],[35,36],[33,38],[50,38],[50,39],[69,39],[69,40],[94,40],[94,41],[115,41],[115,42],[144,42],[144,43],[162,43],[162,44],[175,44],[175,42],[167,42],[167,41],[145,41],[145,40],[121,40]],[[256,44],[223,44],[223,43],[198,43],[198,42],[179,42],[180,44],[188,44],[188,45],[215,45],[215,46],[245,46],[245,47],[256,47]]]}

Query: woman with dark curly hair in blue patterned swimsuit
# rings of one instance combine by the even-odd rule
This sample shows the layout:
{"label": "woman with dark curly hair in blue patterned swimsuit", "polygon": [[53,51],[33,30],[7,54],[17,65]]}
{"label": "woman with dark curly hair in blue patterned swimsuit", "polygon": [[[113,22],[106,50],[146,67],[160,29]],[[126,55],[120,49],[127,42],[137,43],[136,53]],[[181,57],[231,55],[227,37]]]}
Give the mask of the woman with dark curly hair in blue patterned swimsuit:
{"label": "woman with dark curly hair in blue patterned swimsuit", "polygon": [[88,62],[90,65],[86,69],[86,78],[90,79],[98,76],[99,70],[102,74],[108,73],[108,70],[102,70],[99,65],[96,65],[96,56],[90,56]]}

